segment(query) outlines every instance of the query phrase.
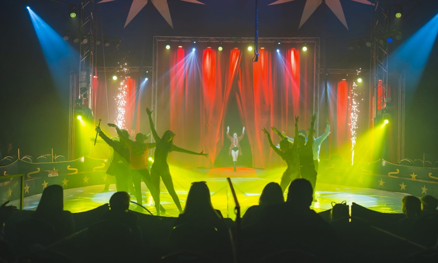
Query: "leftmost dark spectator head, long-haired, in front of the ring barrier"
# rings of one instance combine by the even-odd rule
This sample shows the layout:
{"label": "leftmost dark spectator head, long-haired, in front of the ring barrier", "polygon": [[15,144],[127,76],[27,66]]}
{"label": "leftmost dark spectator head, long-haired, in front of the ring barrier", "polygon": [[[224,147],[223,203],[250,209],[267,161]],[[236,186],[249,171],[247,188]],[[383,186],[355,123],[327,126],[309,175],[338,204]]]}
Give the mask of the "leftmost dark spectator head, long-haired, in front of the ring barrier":
{"label": "leftmost dark spectator head, long-haired, in front of the ring barrier", "polygon": [[36,209],[36,213],[56,213],[64,209],[64,193],[62,186],[47,186]]}

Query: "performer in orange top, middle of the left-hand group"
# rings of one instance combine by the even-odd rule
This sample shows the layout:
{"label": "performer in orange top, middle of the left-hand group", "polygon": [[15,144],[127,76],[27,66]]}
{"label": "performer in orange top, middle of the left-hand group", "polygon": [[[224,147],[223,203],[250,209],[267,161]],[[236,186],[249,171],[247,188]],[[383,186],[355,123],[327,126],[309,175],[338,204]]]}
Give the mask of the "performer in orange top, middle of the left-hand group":
{"label": "performer in orange top, middle of the left-hand group", "polygon": [[[156,189],[152,183],[151,175],[149,174],[148,170],[149,149],[155,148],[155,143],[144,143],[144,141],[148,139],[148,135],[141,133],[136,134],[135,141],[132,141],[129,139],[129,137],[122,137],[122,131],[119,129],[119,127],[117,127],[116,124],[108,123],[108,126],[116,128],[117,134],[120,136],[120,141],[129,147],[130,168],[137,204],[143,204],[141,197],[141,179],[148,187],[152,198],[157,203],[157,200],[154,198],[154,196],[157,195]],[[165,211],[164,208],[161,209]]]}

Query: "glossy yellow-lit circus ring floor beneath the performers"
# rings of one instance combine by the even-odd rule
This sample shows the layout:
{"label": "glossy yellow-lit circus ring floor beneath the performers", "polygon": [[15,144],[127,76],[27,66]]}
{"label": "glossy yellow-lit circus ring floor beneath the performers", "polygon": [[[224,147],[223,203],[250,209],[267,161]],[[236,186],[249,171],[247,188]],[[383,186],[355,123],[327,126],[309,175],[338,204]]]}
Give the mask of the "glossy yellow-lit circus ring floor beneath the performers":
{"label": "glossy yellow-lit circus ring floor beneath the performers", "polygon": [[[205,181],[210,189],[211,202],[213,207],[221,210],[224,217],[235,219],[235,203],[227,183],[230,177],[236,190],[237,198],[241,206],[243,215],[249,206],[258,204],[260,194],[264,186],[269,182],[279,183],[284,168],[276,169],[252,169],[238,168],[233,172],[233,168],[216,169],[181,169],[171,167],[175,190],[184,208],[187,193],[192,182]],[[104,185],[95,185],[74,189],[64,190],[64,209],[72,213],[83,212],[108,203],[111,195],[116,192],[114,184],[111,184],[108,191],[104,191]],[[143,205],[155,214],[152,197],[142,183]],[[315,200],[312,208],[317,211],[324,211],[332,207],[331,202],[340,203],[346,201],[351,205],[355,202],[361,206],[375,211],[385,213],[401,213],[401,200],[406,194],[387,192],[370,188],[346,187],[335,184],[317,183]],[[287,190],[284,198],[287,196]],[[24,209],[35,210],[41,194],[26,197],[24,199]],[[131,196],[135,201],[135,197]],[[14,204],[13,202],[12,204]],[[166,209],[164,216],[177,217],[179,212],[173,203],[167,189],[162,184],[161,204]],[[148,213],[144,209],[138,209],[134,204],[131,210]]]}

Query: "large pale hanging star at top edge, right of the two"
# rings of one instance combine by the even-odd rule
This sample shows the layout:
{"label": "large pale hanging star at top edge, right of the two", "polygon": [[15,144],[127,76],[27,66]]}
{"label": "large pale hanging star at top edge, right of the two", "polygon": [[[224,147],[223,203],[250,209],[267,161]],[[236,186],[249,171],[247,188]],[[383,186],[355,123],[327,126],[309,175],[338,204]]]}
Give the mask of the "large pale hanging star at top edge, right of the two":
{"label": "large pale hanging star at top edge, right of the two", "polygon": [[[295,0],[277,0],[270,5],[278,5],[283,4],[287,2],[292,2]],[[365,4],[365,5],[371,5],[373,6],[373,3],[367,0],[351,0],[357,3]],[[304,23],[312,16],[312,14],[315,12],[315,10],[322,4],[325,3],[329,9],[335,14],[335,16],[339,19],[339,21],[342,23],[342,25],[345,26],[346,29],[348,29],[347,21],[345,20],[344,11],[342,10],[341,2],[340,0],[306,0],[306,5],[304,6],[303,14],[301,15],[301,21],[299,29],[301,26],[303,26]]]}

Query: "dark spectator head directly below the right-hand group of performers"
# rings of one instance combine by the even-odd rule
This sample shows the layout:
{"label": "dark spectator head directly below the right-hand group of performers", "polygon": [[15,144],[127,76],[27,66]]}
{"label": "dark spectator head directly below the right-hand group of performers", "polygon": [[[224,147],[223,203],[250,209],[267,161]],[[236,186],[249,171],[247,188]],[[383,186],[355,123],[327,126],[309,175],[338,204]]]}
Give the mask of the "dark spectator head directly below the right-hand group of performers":
{"label": "dark spectator head directly below the right-hand group of performers", "polygon": [[295,179],[290,183],[287,203],[309,208],[313,200],[312,184],[306,179]]}

